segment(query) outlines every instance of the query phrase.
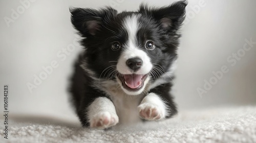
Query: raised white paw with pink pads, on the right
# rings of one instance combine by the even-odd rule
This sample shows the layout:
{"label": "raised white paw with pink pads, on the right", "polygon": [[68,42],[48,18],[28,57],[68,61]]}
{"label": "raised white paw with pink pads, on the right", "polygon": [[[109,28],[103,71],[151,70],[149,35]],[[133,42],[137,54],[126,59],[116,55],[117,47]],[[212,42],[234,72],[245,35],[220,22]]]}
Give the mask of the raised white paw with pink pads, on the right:
{"label": "raised white paw with pink pads, on the right", "polygon": [[138,109],[140,117],[145,120],[159,120],[165,116],[165,110],[153,103],[143,103]]}

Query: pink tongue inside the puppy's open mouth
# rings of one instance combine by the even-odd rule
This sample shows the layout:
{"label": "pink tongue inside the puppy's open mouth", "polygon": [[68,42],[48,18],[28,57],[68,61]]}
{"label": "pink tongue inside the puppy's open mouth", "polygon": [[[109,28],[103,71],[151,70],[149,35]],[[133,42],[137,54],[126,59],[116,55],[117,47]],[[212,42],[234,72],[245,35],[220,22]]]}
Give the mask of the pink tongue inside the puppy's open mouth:
{"label": "pink tongue inside the puppy's open mouth", "polygon": [[141,79],[143,75],[124,75],[124,81],[127,83],[127,86],[130,88],[138,88],[140,86]]}

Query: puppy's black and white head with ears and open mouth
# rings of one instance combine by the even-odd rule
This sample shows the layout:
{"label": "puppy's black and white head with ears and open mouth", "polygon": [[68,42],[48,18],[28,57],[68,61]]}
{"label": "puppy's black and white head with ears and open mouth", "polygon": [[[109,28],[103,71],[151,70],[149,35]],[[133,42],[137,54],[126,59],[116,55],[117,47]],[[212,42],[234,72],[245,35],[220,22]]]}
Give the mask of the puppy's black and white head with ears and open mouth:
{"label": "puppy's black and white head with ears and open mouth", "polygon": [[83,37],[84,69],[100,80],[117,81],[130,95],[143,92],[168,72],[177,57],[185,1],[163,8],[141,5],[138,12],[105,9],[71,10],[71,21]]}

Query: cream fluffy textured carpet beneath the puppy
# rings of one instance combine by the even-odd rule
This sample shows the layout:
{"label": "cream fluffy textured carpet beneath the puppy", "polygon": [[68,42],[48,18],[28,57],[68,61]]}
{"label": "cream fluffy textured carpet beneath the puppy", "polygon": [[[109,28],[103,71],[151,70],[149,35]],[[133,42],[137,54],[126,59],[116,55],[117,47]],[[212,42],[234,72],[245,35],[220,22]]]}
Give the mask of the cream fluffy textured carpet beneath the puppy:
{"label": "cream fluffy textured carpet beneath the puppy", "polygon": [[256,142],[256,106],[183,111],[165,121],[106,131],[41,119],[16,117],[9,139],[4,139],[1,120],[0,142]]}

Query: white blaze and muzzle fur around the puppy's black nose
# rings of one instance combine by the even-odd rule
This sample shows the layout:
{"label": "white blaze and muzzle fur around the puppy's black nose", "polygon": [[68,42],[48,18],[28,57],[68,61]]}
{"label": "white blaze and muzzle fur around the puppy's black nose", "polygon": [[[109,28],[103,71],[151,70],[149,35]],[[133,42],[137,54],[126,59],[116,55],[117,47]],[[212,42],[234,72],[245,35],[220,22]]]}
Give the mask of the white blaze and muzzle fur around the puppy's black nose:
{"label": "white blaze and muzzle fur around the puppy's black nose", "polygon": [[150,57],[148,57],[147,54],[140,50],[136,45],[136,42],[138,41],[137,32],[138,28],[140,27],[138,17],[139,15],[134,14],[127,16],[123,21],[123,28],[127,31],[128,39],[124,44],[124,51],[122,52],[117,63],[117,70],[121,74],[132,74],[130,68],[126,65],[126,61],[135,57],[138,57],[143,61],[143,65],[136,72],[136,74],[148,74],[153,67]]}

